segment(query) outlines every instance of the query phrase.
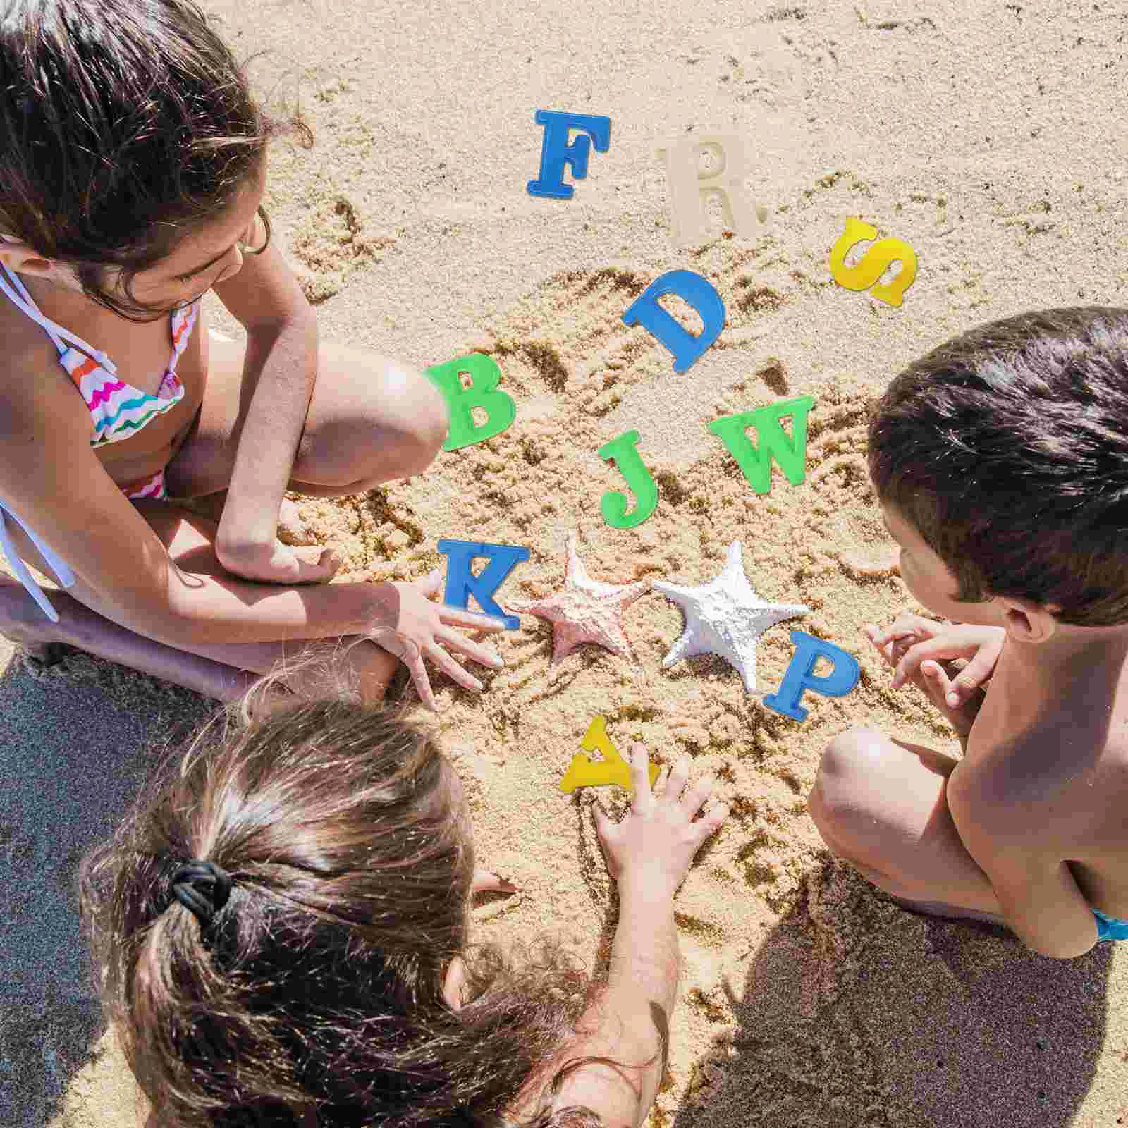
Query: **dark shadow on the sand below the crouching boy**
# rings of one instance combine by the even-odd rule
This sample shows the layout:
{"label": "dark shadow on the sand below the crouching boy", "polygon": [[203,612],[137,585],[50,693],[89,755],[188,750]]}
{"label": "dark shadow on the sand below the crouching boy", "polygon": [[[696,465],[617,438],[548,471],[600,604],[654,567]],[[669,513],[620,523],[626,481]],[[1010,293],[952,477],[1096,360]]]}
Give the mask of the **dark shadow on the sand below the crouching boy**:
{"label": "dark shadow on the sand below the crouching boy", "polygon": [[673,1123],[1066,1128],[1101,1052],[1110,948],[1040,957],[1003,928],[902,911],[828,858],[743,990],[726,985],[737,1025]]}

